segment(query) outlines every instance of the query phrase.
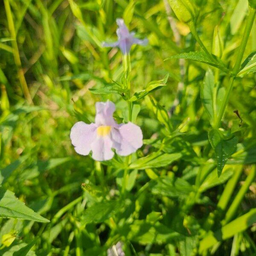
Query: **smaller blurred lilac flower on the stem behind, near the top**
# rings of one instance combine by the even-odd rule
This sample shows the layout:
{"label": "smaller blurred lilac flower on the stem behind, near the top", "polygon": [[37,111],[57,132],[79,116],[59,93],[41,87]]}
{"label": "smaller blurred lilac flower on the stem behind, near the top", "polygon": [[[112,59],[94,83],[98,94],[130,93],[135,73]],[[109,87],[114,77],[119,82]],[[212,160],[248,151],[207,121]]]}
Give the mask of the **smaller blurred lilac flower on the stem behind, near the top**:
{"label": "smaller blurred lilac flower on the stem behind, near the top", "polygon": [[148,44],[148,39],[145,38],[140,40],[135,38],[134,32],[129,32],[127,26],[125,26],[125,22],[123,19],[116,19],[116,24],[118,25],[118,29],[116,29],[116,35],[118,37],[118,41],[114,43],[105,43],[103,42],[103,47],[119,47],[123,54],[127,54],[130,52],[131,46],[133,44],[146,45]]}

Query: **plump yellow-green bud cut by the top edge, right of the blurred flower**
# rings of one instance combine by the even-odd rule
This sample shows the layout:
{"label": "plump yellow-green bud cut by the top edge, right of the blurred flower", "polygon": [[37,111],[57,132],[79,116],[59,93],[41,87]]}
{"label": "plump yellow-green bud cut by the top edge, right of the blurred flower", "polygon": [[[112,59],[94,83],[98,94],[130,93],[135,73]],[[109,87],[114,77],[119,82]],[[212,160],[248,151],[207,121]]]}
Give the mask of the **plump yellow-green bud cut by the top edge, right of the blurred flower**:
{"label": "plump yellow-green bud cut by the top edge, right of the blurred flower", "polygon": [[168,2],[180,21],[188,22],[194,18],[194,7],[189,0],[168,0]]}

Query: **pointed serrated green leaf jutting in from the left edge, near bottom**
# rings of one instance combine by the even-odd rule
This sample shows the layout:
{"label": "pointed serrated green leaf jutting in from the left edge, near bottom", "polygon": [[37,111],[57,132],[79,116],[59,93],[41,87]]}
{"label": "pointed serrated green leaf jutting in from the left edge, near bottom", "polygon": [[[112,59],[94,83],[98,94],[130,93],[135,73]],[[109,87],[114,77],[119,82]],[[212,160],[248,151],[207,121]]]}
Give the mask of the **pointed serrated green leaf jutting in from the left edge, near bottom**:
{"label": "pointed serrated green leaf jutting in from the left edge, near bottom", "polygon": [[13,192],[0,188],[0,218],[19,218],[38,222],[49,222],[19,201]]}

